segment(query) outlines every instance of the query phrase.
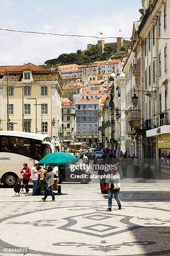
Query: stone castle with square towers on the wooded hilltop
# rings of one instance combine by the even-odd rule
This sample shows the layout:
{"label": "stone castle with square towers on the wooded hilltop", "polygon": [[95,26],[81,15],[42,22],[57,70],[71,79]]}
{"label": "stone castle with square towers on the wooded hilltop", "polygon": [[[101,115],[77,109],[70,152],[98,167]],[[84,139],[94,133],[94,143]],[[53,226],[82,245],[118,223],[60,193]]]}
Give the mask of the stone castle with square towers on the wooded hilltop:
{"label": "stone castle with square towers on the wooded hilltop", "polygon": [[[92,44],[87,44],[87,49],[90,49]],[[114,43],[105,43],[105,40],[98,40],[97,41],[97,50],[99,54],[102,54],[104,52],[104,48],[110,46],[112,49],[112,52],[119,52],[122,47],[125,47],[127,49],[131,46],[131,41],[124,40],[122,37],[117,37],[117,41]]]}

